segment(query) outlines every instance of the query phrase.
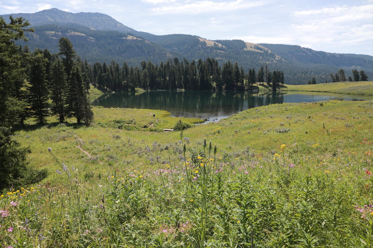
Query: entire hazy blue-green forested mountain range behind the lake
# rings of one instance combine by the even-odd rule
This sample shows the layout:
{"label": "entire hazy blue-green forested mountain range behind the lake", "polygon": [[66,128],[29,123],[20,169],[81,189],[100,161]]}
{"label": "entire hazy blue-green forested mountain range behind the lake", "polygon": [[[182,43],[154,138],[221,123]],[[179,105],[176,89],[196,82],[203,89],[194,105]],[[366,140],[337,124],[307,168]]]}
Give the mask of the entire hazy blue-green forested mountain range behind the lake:
{"label": "entire hazy blue-green forested mountain range behind the lake", "polygon": [[[9,15],[2,15],[9,19]],[[195,35],[153,35],[129,28],[108,15],[101,13],[69,13],[58,9],[37,13],[13,14],[22,16],[35,28],[28,34],[29,48],[57,52],[60,37],[68,37],[77,54],[89,62],[115,60],[119,64],[139,66],[141,61],[165,62],[169,58],[206,59],[238,62],[247,72],[257,71],[267,64],[270,71],[282,70],[288,84],[305,84],[312,77],[317,83],[330,81],[330,73],[345,69],[364,70],[373,79],[373,57],[357,54],[335,54],[314,51],[296,45],[253,44],[241,40],[211,41]],[[23,42],[18,42],[24,45]]]}

